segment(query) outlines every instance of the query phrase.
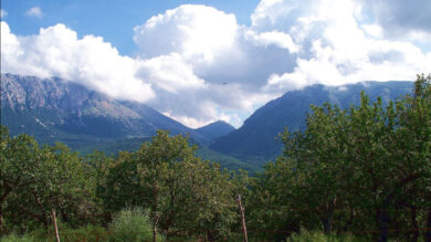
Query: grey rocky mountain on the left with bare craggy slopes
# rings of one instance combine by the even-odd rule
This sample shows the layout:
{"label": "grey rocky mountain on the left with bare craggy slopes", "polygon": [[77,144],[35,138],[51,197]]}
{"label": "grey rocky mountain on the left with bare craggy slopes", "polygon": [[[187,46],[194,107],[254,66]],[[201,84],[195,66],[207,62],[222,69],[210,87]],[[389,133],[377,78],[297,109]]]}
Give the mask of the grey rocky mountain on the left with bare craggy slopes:
{"label": "grey rocky mountain on the left with bare craggy slopes", "polygon": [[72,148],[150,137],[158,129],[209,140],[145,104],[116,101],[56,77],[1,74],[1,124],[12,135],[27,133],[41,143],[63,141]]}

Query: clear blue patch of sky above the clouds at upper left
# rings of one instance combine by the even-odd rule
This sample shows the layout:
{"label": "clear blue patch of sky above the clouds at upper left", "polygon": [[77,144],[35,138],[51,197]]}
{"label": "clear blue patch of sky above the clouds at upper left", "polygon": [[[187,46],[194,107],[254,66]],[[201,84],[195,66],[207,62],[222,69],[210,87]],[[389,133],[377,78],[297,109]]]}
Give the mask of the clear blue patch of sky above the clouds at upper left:
{"label": "clear blue patch of sky above the clouds at upper left", "polygon": [[[36,34],[40,28],[64,23],[78,36],[103,36],[122,54],[133,55],[136,50],[133,28],[186,2],[234,13],[239,23],[249,25],[259,0],[2,0],[1,8],[8,12],[8,24],[19,35]],[[41,9],[42,18],[25,14],[33,7]]]}

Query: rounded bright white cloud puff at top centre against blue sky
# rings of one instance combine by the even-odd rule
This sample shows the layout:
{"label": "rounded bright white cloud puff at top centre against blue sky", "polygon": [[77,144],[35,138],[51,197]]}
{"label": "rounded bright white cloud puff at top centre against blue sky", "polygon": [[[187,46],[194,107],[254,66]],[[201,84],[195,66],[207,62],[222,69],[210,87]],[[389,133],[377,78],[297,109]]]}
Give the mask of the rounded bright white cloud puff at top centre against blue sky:
{"label": "rounded bright white cloud puff at top centre against blue sky", "polygon": [[135,42],[145,57],[178,52],[185,59],[211,62],[233,48],[236,19],[206,6],[180,6],[136,27]]}

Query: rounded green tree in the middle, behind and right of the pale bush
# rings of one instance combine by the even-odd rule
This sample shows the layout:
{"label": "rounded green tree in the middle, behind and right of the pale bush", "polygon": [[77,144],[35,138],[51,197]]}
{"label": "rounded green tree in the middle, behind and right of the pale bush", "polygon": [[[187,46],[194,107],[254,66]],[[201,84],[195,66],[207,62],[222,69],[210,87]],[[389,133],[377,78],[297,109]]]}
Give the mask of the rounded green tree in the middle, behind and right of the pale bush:
{"label": "rounded green tree in the middle, behind and right of the pale bush", "polygon": [[238,183],[219,166],[201,161],[187,137],[159,130],[135,152],[119,154],[107,178],[107,207],[143,207],[154,234],[207,232],[225,235],[234,221]]}

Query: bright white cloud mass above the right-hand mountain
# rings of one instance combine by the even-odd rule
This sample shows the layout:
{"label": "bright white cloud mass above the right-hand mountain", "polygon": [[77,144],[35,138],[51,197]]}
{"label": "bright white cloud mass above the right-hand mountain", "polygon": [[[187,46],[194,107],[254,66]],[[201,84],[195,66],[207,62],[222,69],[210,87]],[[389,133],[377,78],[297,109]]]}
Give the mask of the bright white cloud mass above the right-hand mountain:
{"label": "bright white cloud mass above the right-hand mountain", "polygon": [[[291,3],[269,1],[264,6],[295,13],[293,20],[283,15],[280,21],[285,21],[287,33],[299,36],[296,41],[306,50],[298,55],[293,72],[271,75],[265,91],[286,91],[316,83],[413,80],[416,73],[429,72],[430,53],[409,42],[381,39],[378,24],[361,25],[362,6],[353,0],[315,0],[313,7]],[[274,19],[263,14],[262,8],[256,11],[256,28],[267,24],[263,20]],[[270,23],[280,24],[275,20]]]}

